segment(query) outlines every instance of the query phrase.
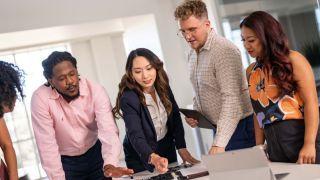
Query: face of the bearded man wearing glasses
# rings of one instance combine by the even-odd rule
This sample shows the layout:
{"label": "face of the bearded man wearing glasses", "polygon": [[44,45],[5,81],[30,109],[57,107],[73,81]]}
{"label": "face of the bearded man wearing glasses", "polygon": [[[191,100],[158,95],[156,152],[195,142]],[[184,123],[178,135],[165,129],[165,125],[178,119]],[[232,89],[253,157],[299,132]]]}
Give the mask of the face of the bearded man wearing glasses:
{"label": "face of the bearded man wearing glasses", "polygon": [[194,15],[186,20],[179,20],[180,32],[192,49],[200,50],[207,41],[210,32],[210,21],[196,18]]}

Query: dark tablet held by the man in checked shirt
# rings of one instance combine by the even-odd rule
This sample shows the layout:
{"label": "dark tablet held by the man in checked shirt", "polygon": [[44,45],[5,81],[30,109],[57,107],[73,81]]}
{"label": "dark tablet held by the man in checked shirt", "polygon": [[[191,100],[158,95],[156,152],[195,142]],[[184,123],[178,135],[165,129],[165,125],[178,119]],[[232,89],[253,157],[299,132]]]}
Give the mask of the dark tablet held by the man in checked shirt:
{"label": "dark tablet held by the man in checked shirt", "polygon": [[205,128],[205,129],[216,129],[217,126],[214,125],[209,119],[207,119],[203,114],[201,114],[197,110],[192,110],[192,109],[179,109],[180,112],[188,117],[188,118],[193,118],[198,120],[198,127],[199,128]]}

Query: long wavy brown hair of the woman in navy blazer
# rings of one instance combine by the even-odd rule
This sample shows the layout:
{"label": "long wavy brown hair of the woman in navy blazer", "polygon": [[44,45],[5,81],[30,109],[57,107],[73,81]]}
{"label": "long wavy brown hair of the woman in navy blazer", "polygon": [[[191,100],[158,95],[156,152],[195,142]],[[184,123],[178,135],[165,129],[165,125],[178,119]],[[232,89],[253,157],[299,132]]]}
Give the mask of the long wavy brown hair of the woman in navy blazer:
{"label": "long wavy brown hair of the woman in navy blazer", "polygon": [[134,80],[132,75],[133,60],[142,56],[146,58],[151,66],[156,69],[157,77],[154,82],[154,87],[159,94],[161,102],[169,115],[172,111],[172,103],[169,99],[169,79],[167,73],[163,69],[163,62],[155,55],[152,51],[146,48],[138,48],[130,52],[127,63],[126,63],[126,73],[122,76],[121,82],[119,84],[119,93],[116,100],[116,105],[112,109],[114,117],[123,117],[120,112],[120,99],[125,90],[133,90],[138,94],[140,102],[146,106],[145,97],[143,95],[142,87]]}

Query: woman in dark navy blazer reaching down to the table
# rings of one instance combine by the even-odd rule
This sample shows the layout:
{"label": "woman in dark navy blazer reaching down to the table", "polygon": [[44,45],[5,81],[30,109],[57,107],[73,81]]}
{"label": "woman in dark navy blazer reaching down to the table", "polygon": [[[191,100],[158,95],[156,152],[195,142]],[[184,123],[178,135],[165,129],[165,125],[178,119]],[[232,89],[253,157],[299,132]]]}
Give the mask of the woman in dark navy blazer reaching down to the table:
{"label": "woman in dark navy blazer reaching down to the table", "polygon": [[177,161],[176,149],[184,162],[199,162],[186,149],[178,105],[163,63],[152,51],[129,54],[113,113],[125,121],[125,161],[135,173],[166,172],[168,163]]}

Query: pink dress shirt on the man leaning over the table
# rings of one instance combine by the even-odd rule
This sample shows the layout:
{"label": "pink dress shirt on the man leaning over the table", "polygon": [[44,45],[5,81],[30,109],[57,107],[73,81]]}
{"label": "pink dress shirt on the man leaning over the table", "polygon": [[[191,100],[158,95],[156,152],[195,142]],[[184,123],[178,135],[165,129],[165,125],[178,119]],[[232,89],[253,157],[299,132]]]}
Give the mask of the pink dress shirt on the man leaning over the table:
{"label": "pink dress shirt on the man leaning over the table", "polygon": [[61,155],[78,156],[102,143],[104,165],[117,165],[121,150],[109,97],[98,84],[81,78],[80,96],[67,103],[51,87],[32,96],[32,125],[43,169],[49,179],[65,179]]}

